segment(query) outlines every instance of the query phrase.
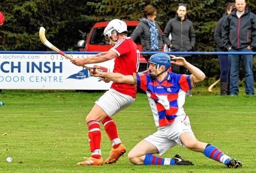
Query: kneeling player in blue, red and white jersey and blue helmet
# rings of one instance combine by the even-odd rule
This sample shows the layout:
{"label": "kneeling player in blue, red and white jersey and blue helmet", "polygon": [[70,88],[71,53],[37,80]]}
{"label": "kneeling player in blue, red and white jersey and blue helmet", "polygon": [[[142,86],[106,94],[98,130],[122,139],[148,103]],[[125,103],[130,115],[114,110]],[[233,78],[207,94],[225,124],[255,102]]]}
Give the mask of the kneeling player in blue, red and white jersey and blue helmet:
{"label": "kneeling player in blue, red and white jersey and blue helmet", "polygon": [[[171,58],[170,58],[171,56]],[[178,158],[162,158],[171,147],[179,144],[192,151],[203,153],[206,157],[225,164],[228,168],[242,166],[242,162],[232,159],[216,146],[198,141],[191,129],[189,117],[185,114],[185,92],[195,87],[195,83],[205,78],[203,71],[193,66],[184,57],[176,57],[165,53],[154,54],[148,60],[146,73],[122,75],[90,71],[95,77],[108,78],[114,82],[130,83],[146,91],[148,101],[158,130],[144,138],[131,149],[128,158],[134,164],[175,165],[189,161]],[[191,75],[175,74],[168,71],[171,64],[184,66]]]}

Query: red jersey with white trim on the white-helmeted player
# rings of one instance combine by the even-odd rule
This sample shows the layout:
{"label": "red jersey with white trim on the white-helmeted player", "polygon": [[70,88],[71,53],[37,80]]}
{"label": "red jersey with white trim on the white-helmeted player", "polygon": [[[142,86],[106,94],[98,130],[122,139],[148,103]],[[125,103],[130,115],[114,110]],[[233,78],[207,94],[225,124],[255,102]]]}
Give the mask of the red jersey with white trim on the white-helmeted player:
{"label": "red jersey with white trim on the white-helmeted player", "polygon": [[[137,49],[137,45],[130,37],[118,40],[111,49],[118,54],[118,57],[116,57],[114,61],[114,73],[133,75],[133,73],[138,72],[139,50]],[[111,88],[121,92],[122,94],[130,95],[133,98],[136,98],[137,87],[134,85],[113,82]]]}

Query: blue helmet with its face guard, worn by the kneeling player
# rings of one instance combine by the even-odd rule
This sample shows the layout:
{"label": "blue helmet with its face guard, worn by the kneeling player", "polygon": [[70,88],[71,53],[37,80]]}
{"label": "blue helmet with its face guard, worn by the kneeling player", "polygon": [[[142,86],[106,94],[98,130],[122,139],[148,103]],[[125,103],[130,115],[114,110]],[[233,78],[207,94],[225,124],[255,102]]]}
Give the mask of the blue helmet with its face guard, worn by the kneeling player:
{"label": "blue helmet with its face guard, worn by the kneeling player", "polygon": [[159,75],[163,74],[165,71],[170,69],[170,67],[171,67],[171,58],[166,53],[156,53],[156,54],[153,54],[150,57],[150,59],[148,60],[147,69],[150,66],[150,64],[155,64],[156,71],[159,71],[159,67],[162,66],[162,65],[166,67],[166,69],[164,69],[163,71],[161,71],[157,75],[149,73],[152,78],[156,78]]}

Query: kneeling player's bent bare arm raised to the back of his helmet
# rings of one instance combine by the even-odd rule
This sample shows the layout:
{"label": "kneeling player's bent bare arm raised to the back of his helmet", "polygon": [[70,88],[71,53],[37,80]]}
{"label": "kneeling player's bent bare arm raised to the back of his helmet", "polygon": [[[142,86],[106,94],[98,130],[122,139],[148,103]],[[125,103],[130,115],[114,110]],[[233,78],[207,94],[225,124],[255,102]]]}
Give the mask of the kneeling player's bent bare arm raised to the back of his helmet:
{"label": "kneeling player's bent bare arm raised to the back of his helmet", "polygon": [[173,56],[173,55],[170,55],[170,56],[171,56],[172,60],[174,60],[174,61],[171,61],[171,64],[176,64],[176,65],[179,65],[179,66],[182,65],[186,69],[188,69],[188,71],[190,71],[190,73],[191,73],[191,77],[190,77],[191,83],[204,81],[205,74],[199,68],[197,68],[196,66],[193,66],[192,64],[187,62],[185,60],[185,58],[183,58],[183,57],[176,57],[176,56]]}

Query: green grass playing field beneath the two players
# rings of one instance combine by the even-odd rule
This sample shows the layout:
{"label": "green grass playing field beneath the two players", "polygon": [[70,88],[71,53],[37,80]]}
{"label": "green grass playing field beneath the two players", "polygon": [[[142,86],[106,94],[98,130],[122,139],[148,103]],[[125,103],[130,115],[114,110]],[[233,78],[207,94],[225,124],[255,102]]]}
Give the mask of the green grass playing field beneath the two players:
{"label": "green grass playing field beneath the two players", "polygon": [[[243,167],[228,169],[223,164],[180,146],[163,157],[180,154],[195,166],[134,166],[127,153],[115,164],[101,167],[76,166],[89,157],[86,113],[102,92],[3,90],[0,100],[0,172],[256,172],[256,96],[204,95],[187,98],[185,111],[193,132]],[[114,116],[119,136],[129,151],[155,132],[146,95]],[[103,128],[102,128],[103,129]],[[110,142],[102,131],[102,156],[108,157]],[[7,163],[6,158],[13,162]]]}

